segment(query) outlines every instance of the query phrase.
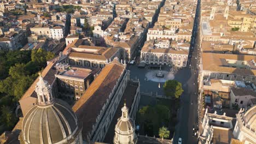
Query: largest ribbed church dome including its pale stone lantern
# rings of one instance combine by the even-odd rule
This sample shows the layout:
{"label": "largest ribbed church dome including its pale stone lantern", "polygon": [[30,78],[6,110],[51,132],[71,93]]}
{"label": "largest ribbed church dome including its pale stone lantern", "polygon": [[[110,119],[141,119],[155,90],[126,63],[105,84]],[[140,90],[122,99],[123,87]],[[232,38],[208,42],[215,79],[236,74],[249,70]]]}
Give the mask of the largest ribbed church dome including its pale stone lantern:
{"label": "largest ribbed church dome including its pale stone lantern", "polygon": [[71,107],[54,99],[51,87],[39,77],[37,104],[24,117],[22,141],[25,143],[82,143],[81,125]]}

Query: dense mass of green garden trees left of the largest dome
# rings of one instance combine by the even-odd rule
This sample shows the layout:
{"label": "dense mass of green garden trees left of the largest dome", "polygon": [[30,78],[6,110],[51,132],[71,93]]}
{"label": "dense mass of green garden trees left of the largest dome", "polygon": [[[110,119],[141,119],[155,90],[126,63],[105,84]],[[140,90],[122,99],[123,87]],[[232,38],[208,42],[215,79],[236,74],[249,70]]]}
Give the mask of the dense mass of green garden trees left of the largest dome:
{"label": "dense mass of green garden trees left of the largest dome", "polygon": [[0,51],[0,128],[4,125],[9,130],[15,125],[16,103],[36,79],[37,72],[53,57],[54,53],[43,49]]}

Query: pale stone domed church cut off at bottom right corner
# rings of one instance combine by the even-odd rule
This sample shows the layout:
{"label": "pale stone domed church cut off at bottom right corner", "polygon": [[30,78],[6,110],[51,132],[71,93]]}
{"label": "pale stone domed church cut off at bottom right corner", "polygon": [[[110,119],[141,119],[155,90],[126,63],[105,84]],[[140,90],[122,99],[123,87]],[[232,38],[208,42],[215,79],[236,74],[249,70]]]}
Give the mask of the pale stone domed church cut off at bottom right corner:
{"label": "pale stone domed church cut off at bottom right corner", "polygon": [[250,109],[240,109],[236,114],[236,125],[233,131],[235,139],[246,144],[256,142],[256,105]]}

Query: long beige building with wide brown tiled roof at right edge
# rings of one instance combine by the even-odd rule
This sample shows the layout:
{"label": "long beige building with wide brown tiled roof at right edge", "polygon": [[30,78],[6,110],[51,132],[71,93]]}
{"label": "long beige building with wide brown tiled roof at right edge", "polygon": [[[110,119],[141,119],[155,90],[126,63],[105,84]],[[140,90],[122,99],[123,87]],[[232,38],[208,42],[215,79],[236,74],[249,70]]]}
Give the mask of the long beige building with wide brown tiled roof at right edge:
{"label": "long beige building with wide brown tiled roof at right edge", "polygon": [[202,53],[201,82],[205,79],[256,83],[255,56]]}

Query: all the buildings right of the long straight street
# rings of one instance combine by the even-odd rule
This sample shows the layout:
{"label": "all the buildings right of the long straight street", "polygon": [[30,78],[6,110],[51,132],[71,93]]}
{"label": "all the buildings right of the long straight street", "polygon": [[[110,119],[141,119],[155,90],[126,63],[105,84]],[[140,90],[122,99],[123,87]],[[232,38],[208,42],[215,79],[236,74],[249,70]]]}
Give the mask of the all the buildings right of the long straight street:
{"label": "all the buildings right of the long straight street", "polygon": [[201,2],[200,143],[256,141],[256,21],[242,3]]}

